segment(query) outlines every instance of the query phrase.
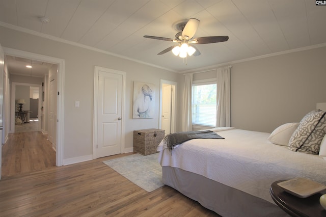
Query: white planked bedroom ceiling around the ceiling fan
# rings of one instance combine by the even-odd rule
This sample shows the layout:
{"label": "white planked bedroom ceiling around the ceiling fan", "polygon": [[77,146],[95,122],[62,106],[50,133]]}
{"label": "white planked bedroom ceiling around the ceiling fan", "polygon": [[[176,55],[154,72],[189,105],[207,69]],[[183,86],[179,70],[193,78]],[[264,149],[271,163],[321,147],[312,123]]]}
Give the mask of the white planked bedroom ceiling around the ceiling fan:
{"label": "white planked bedroom ceiling around the ceiling fan", "polygon": [[[195,38],[229,40],[197,45],[201,55],[185,64],[172,52],[156,55],[172,42],[143,37],[174,38],[174,24],[191,17],[200,20]],[[325,21],[326,6],[312,0],[0,0],[1,25],[177,72],[325,46]]]}

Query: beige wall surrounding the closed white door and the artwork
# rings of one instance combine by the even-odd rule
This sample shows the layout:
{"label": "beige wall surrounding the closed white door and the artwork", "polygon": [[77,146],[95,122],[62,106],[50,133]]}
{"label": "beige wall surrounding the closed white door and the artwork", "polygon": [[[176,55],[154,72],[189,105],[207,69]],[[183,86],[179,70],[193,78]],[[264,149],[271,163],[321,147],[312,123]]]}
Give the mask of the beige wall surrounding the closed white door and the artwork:
{"label": "beige wall surrounding the closed white door and the artwork", "polygon": [[[159,80],[177,82],[179,74],[132,62],[105,53],[52,41],[30,34],[0,27],[0,43],[4,47],[29,51],[65,60],[64,84],[64,159],[92,155],[93,147],[93,84],[94,66],[125,71],[125,148],[132,148],[133,130],[158,127]],[[156,86],[155,118],[132,119],[133,81]],[[75,101],[79,107],[74,107]],[[178,116],[177,116],[178,117]]]}

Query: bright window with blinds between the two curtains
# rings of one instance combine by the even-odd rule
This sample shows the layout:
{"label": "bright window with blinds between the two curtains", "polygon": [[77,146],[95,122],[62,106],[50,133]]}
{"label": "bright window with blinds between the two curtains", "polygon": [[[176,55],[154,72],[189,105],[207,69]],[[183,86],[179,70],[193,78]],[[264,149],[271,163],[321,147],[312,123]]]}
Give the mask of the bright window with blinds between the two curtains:
{"label": "bright window with blinds between the two curtains", "polygon": [[193,84],[192,119],[193,124],[216,125],[216,82]]}

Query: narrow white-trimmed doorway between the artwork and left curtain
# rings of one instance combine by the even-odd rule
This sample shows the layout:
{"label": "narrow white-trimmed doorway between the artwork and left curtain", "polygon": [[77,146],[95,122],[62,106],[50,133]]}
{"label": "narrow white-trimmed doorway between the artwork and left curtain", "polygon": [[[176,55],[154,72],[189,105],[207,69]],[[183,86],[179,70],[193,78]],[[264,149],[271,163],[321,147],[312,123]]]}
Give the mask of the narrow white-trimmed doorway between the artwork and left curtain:
{"label": "narrow white-trimmed doorway between the artwork and left curtain", "polygon": [[165,130],[165,134],[176,132],[176,93],[176,82],[160,80],[159,129]]}

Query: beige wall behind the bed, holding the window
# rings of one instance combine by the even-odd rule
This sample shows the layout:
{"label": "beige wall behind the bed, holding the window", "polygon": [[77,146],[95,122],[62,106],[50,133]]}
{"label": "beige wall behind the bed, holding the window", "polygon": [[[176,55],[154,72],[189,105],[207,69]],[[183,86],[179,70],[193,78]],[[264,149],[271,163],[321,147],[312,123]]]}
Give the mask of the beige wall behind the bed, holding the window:
{"label": "beige wall behind the bed, holding the window", "polygon": [[[325,55],[321,47],[231,64],[231,126],[271,132],[300,122],[317,102],[326,102]],[[212,72],[194,74],[210,77]]]}

